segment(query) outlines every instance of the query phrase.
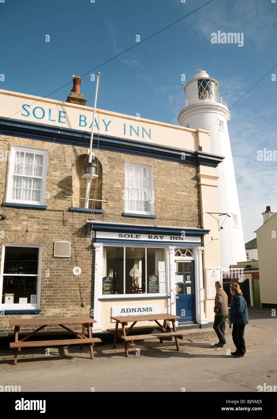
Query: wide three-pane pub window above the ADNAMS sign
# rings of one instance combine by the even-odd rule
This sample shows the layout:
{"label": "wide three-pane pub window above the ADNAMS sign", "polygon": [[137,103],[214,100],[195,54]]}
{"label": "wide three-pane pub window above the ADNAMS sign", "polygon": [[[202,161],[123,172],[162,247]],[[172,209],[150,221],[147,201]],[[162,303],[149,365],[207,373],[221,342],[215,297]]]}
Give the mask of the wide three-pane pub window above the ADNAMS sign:
{"label": "wide three-pane pub window above the ADNAMS sign", "polygon": [[103,248],[103,295],[165,292],[164,248]]}

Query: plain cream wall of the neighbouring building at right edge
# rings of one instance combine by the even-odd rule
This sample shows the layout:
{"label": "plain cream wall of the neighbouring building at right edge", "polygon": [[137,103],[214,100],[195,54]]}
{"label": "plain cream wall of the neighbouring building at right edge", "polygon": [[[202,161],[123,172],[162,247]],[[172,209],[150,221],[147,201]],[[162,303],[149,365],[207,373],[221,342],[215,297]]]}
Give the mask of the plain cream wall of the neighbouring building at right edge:
{"label": "plain cream wall of the neighbouring building at right edge", "polygon": [[256,230],[262,307],[277,307],[277,213]]}

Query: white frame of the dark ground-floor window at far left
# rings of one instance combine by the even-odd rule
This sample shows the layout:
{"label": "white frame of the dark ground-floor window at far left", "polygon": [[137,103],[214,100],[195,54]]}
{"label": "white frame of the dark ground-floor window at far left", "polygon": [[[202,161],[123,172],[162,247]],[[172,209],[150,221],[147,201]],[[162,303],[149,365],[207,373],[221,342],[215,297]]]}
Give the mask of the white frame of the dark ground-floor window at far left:
{"label": "white frame of the dark ground-floor window at far left", "polygon": [[[13,303],[13,304],[2,304],[2,293],[3,293],[3,271],[4,271],[4,260],[5,260],[5,248],[6,247],[35,247],[39,249],[39,260],[38,260],[38,273],[37,273],[37,295],[36,303]],[[3,243],[2,245],[2,258],[1,258],[1,270],[0,270],[0,290],[1,290],[1,300],[0,300],[0,310],[37,310],[39,308],[40,301],[40,283],[41,283],[41,257],[42,257],[42,245],[41,244],[28,244],[28,243]],[[36,275],[32,275],[36,276]]]}

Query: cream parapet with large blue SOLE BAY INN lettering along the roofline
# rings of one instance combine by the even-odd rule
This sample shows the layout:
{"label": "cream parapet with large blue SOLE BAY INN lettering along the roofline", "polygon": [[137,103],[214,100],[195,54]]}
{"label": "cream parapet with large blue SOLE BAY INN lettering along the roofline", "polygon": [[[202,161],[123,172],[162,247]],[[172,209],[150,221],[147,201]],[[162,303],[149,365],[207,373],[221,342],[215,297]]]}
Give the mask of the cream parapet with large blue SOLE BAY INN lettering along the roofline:
{"label": "cream parapet with large blue SOLE BAY INN lettering along the roofline", "polygon": [[[93,108],[0,89],[0,116],[91,132]],[[102,109],[97,110],[95,119],[94,133],[192,151],[201,144],[203,151],[210,153],[210,134],[203,129],[189,129]]]}

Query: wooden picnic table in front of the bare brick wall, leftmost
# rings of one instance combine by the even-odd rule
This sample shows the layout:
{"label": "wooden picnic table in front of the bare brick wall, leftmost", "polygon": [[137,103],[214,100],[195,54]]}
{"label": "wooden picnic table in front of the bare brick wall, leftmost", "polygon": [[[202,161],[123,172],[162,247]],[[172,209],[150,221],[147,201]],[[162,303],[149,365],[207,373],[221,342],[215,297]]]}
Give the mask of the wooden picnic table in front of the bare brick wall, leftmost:
{"label": "wooden picnic table in front of the bare brick wall, leftmost", "polygon": [[[14,352],[14,364],[17,363],[17,352],[25,347],[39,347],[39,346],[58,346],[58,345],[74,345],[80,343],[80,349],[83,349],[83,344],[89,344],[91,349],[91,359],[93,359],[93,345],[95,342],[101,342],[98,338],[91,336],[91,325],[96,323],[96,320],[90,317],[70,317],[70,318],[31,318],[31,319],[15,319],[10,321],[10,326],[14,326],[13,342],[10,343],[10,348]],[[76,332],[66,327],[70,324],[81,324],[83,326],[82,332]],[[33,336],[38,331],[49,325],[58,325],[65,330],[68,334],[77,336],[78,339],[60,339],[48,341],[26,341],[30,336]],[[18,340],[18,332],[21,326],[40,326],[33,332]],[[85,329],[88,329],[88,338],[85,336]]]}

